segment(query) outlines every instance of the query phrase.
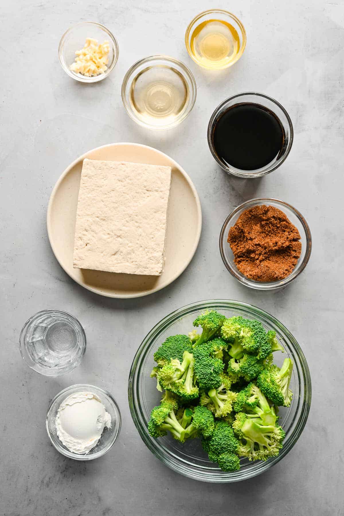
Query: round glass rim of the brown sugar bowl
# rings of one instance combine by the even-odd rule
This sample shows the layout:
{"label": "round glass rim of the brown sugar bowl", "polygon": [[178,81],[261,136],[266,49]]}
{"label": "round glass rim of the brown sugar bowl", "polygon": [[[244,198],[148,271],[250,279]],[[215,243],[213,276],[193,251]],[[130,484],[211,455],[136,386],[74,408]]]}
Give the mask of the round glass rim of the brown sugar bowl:
{"label": "round glass rim of the brown sugar bowl", "polygon": [[[270,202],[279,204],[281,207],[289,208],[290,211],[293,213],[293,215],[295,215],[298,218],[298,220],[300,221],[300,223],[303,227],[303,230],[305,232],[306,252],[305,252],[303,260],[301,261],[298,269],[296,270],[296,268],[294,268],[294,270],[290,273],[290,275],[287,276],[284,280],[276,280],[276,281],[272,281],[270,283],[259,283],[257,281],[251,280],[250,278],[242,278],[239,275],[239,273],[237,272],[237,268],[232,267],[232,265],[230,263],[228,263],[228,261],[226,260],[225,253],[224,253],[223,238],[224,238],[224,233],[225,233],[225,229],[227,228],[227,225],[230,223],[231,219],[233,219],[235,217],[235,215],[237,215],[238,212],[240,212],[244,208],[253,207],[253,206],[257,205],[258,203],[268,204]],[[299,212],[298,209],[294,208],[291,204],[289,204],[285,201],[281,201],[280,199],[273,199],[273,198],[268,198],[268,197],[263,198],[262,197],[262,198],[250,199],[249,201],[243,202],[242,204],[237,206],[228,215],[228,217],[226,217],[225,221],[222,224],[222,228],[221,228],[221,232],[220,232],[219,246],[220,246],[220,254],[221,254],[222,262],[225,265],[226,269],[231,273],[231,275],[236,280],[238,280],[242,285],[248,286],[250,288],[254,288],[256,290],[261,290],[261,291],[269,291],[269,290],[275,290],[276,288],[282,288],[282,287],[285,287],[286,285],[289,285],[289,283],[291,283],[294,279],[296,279],[301,274],[301,272],[305,269],[305,267],[309,261],[309,258],[310,258],[310,253],[312,252],[312,235],[310,233],[309,225],[308,225],[306,219]]]}

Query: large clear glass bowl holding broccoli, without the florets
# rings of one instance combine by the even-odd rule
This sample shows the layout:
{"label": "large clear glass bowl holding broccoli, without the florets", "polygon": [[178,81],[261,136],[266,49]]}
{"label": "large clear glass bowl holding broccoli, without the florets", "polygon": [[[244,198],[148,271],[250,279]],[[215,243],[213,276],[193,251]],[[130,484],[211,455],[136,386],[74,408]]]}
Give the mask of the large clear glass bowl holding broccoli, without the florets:
{"label": "large clear glass bowl holding broccoli, without the florets", "polygon": [[[158,346],[169,335],[188,333],[192,330],[192,321],[204,310],[215,309],[232,317],[241,315],[245,318],[257,319],[267,330],[275,330],[277,338],[285,352],[275,352],[274,362],[281,366],[285,357],[294,363],[290,388],[293,391],[291,406],[280,409],[280,424],[286,432],[284,446],[277,457],[267,461],[249,462],[241,459],[240,471],[226,473],[218,465],[210,462],[198,439],[190,439],[185,444],[166,436],[154,439],[147,430],[150,412],[159,404],[161,393],[156,389],[156,382],[150,378],[155,365],[153,354]],[[291,333],[272,315],[253,307],[250,304],[225,299],[213,299],[189,304],[163,318],[144,338],[130,369],[128,382],[128,398],[130,412],[136,428],[146,446],[152,453],[177,473],[204,482],[237,482],[252,478],[279,462],[299,439],[306,424],[310,399],[311,384],[309,369],[304,354]]]}

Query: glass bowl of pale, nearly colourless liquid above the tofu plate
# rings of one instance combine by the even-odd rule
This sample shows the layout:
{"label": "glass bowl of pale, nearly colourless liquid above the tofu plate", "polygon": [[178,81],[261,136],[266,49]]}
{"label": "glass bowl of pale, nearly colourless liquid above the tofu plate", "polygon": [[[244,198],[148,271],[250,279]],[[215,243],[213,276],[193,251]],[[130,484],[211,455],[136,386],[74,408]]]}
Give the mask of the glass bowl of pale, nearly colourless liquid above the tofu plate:
{"label": "glass bowl of pale, nearly colourless liquid above the tofu plate", "polygon": [[128,115],[149,129],[170,129],[190,114],[196,83],[187,66],[169,56],[137,61],[124,76],[122,100]]}

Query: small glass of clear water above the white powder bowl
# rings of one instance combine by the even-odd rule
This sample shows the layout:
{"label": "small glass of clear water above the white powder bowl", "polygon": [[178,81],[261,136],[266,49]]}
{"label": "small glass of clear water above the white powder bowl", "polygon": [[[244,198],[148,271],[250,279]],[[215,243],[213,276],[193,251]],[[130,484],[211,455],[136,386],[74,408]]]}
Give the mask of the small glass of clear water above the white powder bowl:
{"label": "small glass of clear water above the white powder bowl", "polygon": [[43,310],[25,322],[19,347],[31,369],[45,376],[61,376],[70,373],[83,359],[86,335],[73,315]]}

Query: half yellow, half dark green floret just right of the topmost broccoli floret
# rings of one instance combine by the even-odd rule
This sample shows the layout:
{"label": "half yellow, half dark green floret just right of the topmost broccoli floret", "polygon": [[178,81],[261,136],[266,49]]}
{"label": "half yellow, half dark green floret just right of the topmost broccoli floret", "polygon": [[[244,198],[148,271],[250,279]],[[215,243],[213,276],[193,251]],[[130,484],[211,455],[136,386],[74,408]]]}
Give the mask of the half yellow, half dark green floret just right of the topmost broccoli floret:
{"label": "half yellow, half dark green floret just right of the topmost broccoli floret", "polygon": [[223,322],[222,337],[232,346],[228,349],[231,357],[240,359],[243,353],[253,353],[259,360],[271,353],[265,329],[257,320],[231,317]]}

